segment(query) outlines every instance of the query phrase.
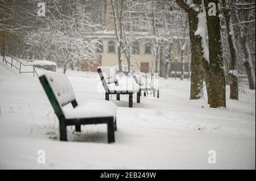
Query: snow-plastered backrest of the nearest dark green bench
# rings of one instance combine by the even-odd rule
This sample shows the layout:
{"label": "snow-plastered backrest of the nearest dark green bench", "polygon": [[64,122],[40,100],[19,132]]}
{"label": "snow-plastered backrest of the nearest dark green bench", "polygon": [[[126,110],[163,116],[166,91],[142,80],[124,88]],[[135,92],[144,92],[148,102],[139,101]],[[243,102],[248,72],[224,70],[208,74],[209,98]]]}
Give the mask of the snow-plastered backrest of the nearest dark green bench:
{"label": "snow-plastered backrest of the nearest dark green bench", "polygon": [[56,115],[64,116],[61,107],[72,103],[77,106],[75,92],[69,79],[61,73],[46,72],[39,77]]}

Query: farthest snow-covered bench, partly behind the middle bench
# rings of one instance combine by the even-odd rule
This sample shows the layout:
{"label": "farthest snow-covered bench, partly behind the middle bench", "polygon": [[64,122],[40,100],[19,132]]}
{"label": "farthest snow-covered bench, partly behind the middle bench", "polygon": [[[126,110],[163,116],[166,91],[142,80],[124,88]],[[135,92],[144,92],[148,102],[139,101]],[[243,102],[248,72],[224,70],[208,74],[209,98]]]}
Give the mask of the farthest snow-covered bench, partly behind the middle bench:
{"label": "farthest snow-covered bench, partly behind the middle bench", "polygon": [[155,97],[155,93],[157,93],[157,98],[159,98],[159,86],[158,81],[156,81],[155,77],[151,77],[146,73],[134,74],[133,78],[135,82],[140,86],[141,92],[144,92],[144,96],[146,96],[146,92],[152,91],[153,96]]}

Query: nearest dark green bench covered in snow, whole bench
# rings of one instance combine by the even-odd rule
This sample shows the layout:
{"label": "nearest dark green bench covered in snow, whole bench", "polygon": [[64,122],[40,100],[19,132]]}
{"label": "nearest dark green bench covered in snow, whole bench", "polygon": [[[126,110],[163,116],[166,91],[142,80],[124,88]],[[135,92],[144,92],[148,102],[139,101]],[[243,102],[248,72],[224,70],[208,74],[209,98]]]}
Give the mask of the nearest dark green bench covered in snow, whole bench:
{"label": "nearest dark green bench covered in snow, whole bench", "polygon": [[[108,124],[108,142],[114,142],[114,131],[117,130],[117,106],[105,100],[89,100],[77,104],[75,92],[69,79],[61,73],[47,72],[39,77],[59,119],[60,141],[67,141],[67,126],[75,125],[76,131],[81,132],[83,124]],[[63,107],[71,103],[73,109]]]}

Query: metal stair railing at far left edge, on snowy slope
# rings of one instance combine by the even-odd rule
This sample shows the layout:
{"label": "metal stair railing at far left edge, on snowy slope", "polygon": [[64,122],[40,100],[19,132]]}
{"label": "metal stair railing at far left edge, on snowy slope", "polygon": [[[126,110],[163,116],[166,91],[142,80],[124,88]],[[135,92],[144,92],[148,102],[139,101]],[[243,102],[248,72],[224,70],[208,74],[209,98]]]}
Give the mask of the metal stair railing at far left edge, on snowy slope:
{"label": "metal stair railing at far left edge, on snowy slope", "polygon": [[[6,54],[5,52],[3,52],[2,50],[0,50],[1,54],[2,54],[2,58],[3,58],[3,63],[6,63],[6,65],[11,65],[11,68],[15,68],[19,70],[19,73],[33,73],[33,76],[35,77],[35,74],[38,76],[38,73],[35,70],[35,65],[26,65],[23,64],[22,62],[20,62],[19,60],[17,60],[16,58],[10,56],[9,54]],[[11,58],[11,62],[6,60],[6,56]],[[16,64],[14,64],[16,63]],[[17,67],[18,64],[18,67]],[[22,65],[26,66],[26,67],[32,67],[33,71],[22,71]]]}

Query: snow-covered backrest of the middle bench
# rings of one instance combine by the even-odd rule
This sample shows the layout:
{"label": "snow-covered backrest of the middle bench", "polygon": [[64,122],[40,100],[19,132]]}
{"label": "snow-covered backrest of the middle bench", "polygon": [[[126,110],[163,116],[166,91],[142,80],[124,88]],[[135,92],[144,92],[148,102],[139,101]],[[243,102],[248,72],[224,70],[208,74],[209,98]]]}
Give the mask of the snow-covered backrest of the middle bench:
{"label": "snow-covered backrest of the middle bench", "polygon": [[101,82],[104,86],[106,92],[109,92],[108,84],[115,83],[117,84],[117,78],[114,68],[111,66],[99,66],[97,68],[98,74],[100,75]]}

